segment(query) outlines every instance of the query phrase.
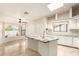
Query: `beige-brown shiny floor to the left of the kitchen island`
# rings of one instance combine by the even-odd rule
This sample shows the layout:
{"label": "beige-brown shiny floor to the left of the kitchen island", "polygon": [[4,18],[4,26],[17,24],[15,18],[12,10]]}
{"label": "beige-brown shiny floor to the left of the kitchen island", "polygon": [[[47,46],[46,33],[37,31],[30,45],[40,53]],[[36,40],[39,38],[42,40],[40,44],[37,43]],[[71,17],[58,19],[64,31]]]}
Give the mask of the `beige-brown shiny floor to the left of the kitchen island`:
{"label": "beige-brown shiny floor to the left of the kitchen island", "polygon": [[[13,45],[5,46],[5,55],[4,56],[40,56],[40,54],[32,49],[24,48],[27,45],[22,43],[22,49],[20,50],[19,43]],[[0,47],[0,55],[3,56],[3,49]]]}

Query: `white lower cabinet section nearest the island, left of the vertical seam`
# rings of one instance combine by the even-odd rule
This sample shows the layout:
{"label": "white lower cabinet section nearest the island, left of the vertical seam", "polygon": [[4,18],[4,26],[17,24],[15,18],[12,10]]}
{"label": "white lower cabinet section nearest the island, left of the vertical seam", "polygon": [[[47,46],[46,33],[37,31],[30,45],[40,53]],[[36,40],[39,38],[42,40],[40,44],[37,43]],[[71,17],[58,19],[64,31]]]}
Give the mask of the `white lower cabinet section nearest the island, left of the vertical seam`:
{"label": "white lower cabinet section nearest the island, left of the vertical seam", "polygon": [[61,36],[59,37],[58,44],[72,46],[72,37]]}

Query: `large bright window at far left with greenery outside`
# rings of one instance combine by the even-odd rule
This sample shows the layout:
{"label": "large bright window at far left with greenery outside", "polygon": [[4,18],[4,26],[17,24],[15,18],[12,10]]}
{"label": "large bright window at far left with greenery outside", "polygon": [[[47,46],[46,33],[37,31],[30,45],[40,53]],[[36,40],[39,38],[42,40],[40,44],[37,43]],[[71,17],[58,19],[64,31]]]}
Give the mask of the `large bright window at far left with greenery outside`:
{"label": "large bright window at far left with greenery outside", "polygon": [[18,34],[18,26],[13,24],[5,24],[5,37],[12,37]]}

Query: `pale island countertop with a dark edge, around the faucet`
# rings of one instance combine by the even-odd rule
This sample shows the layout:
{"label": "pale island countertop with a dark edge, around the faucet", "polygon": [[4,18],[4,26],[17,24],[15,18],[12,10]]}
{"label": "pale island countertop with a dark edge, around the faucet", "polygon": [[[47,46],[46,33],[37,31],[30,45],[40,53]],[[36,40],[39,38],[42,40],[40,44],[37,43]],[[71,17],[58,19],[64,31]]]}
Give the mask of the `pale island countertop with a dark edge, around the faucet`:
{"label": "pale island countertop with a dark edge, around the faucet", "polygon": [[41,36],[27,36],[27,38],[39,40],[39,41],[44,42],[44,43],[54,41],[54,40],[58,40],[57,37],[49,37],[49,36],[46,36],[45,38],[43,38]]}

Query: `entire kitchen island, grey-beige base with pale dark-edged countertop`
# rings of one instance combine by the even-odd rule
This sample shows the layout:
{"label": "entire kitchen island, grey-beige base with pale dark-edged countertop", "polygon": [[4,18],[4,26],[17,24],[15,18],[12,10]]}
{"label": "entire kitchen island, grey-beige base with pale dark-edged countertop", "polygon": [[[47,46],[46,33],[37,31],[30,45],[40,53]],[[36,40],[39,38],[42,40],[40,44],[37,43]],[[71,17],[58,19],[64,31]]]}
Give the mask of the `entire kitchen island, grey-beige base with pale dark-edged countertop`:
{"label": "entire kitchen island, grey-beige base with pale dark-edged countertop", "polygon": [[57,38],[54,37],[38,37],[27,36],[28,48],[39,52],[42,56],[56,56],[57,55]]}

